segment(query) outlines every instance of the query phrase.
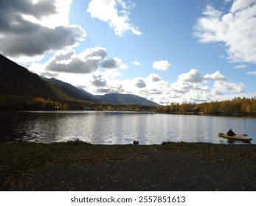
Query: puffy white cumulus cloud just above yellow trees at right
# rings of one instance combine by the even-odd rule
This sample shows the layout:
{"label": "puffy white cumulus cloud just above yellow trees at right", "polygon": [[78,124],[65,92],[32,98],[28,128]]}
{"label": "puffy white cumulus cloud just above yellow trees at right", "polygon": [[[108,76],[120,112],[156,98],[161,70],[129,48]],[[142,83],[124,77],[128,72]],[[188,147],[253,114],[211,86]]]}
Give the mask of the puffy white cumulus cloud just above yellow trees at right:
{"label": "puffy white cumulus cloud just above yellow trees at right", "polygon": [[[210,81],[214,81],[213,86],[210,86]],[[220,71],[202,75],[197,69],[191,69],[179,75],[177,81],[167,89],[166,95],[178,102],[206,102],[215,95],[241,93],[243,88],[242,83],[227,82]]]}

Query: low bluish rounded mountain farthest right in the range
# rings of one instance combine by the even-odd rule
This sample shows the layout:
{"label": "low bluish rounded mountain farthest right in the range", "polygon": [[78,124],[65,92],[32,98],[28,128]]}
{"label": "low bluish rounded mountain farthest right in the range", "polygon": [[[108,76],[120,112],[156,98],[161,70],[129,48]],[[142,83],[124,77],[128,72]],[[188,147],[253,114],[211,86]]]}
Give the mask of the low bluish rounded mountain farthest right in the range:
{"label": "low bluish rounded mountain farthest right in the range", "polygon": [[136,96],[134,94],[122,94],[122,93],[108,93],[103,96],[97,96],[100,102],[107,102],[110,104],[138,104],[145,106],[159,106],[155,102],[148,99]]}

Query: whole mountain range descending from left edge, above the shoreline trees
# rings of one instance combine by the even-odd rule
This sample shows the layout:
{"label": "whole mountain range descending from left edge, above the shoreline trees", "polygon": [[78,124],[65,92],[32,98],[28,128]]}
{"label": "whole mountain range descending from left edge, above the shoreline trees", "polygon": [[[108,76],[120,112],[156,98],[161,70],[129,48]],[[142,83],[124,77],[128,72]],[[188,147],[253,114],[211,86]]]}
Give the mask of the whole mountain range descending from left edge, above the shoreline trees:
{"label": "whole mountain range descending from left edge, above the shoreline trees", "polygon": [[155,102],[133,94],[108,93],[94,96],[81,88],[58,79],[39,77],[0,54],[0,95],[18,95],[25,98],[42,97],[54,101],[99,102],[106,104],[136,104],[159,106]]}

